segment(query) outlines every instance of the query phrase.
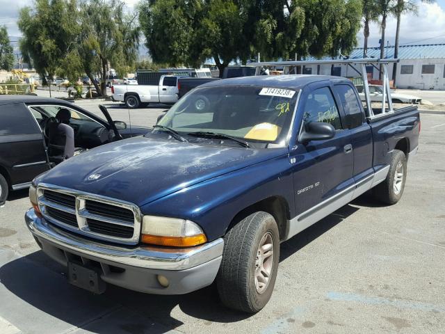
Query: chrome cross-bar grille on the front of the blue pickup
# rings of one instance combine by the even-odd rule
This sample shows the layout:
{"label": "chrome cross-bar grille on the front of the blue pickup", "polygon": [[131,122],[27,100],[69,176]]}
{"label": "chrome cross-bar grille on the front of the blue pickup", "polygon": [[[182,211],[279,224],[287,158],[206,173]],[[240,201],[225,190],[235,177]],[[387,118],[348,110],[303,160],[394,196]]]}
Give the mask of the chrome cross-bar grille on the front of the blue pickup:
{"label": "chrome cross-bar grille on the front of the blue pickup", "polygon": [[142,215],[132,203],[39,184],[38,204],[47,221],[72,232],[122,244],[139,242]]}

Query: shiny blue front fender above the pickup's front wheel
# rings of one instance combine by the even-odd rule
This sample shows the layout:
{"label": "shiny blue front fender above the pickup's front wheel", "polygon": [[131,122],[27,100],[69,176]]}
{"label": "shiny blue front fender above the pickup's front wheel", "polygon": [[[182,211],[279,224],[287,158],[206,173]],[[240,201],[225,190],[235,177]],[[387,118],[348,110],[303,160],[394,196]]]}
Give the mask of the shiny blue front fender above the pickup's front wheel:
{"label": "shiny blue front fender above the pickup's front wheel", "polygon": [[207,239],[214,240],[225,234],[238,212],[272,196],[284,198],[293,216],[293,182],[287,154],[184,188],[141,210],[143,214],[194,221]]}

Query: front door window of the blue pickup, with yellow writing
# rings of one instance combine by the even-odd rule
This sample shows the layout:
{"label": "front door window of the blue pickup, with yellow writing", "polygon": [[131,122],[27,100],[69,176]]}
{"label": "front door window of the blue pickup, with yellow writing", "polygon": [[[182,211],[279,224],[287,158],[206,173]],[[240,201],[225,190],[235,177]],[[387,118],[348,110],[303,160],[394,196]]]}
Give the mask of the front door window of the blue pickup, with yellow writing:
{"label": "front door window of the blue pickup, with yellow writing", "polygon": [[339,109],[329,88],[318,88],[309,94],[303,121],[306,124],[310,122],[326,122],[330,123],[336,130],[343,129]]}

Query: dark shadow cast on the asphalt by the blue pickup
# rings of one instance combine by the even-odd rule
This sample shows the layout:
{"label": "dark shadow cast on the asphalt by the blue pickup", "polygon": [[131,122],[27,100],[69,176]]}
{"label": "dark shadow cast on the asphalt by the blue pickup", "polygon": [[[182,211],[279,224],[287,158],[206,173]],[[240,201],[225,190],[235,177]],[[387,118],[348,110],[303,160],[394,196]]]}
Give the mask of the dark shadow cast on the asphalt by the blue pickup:
{"label": "dark shadow cast on the asphalt by the blue pickup", "polygon": [[[366,198],[360,199],[359,202],[360,205],[365,202],[373,204]],[[296,237],[284,242],[281,246],[280,261],[295,254],[357,210],[359,210],[358,207],[345,205]],[[30,272],[33,274],[30,275]],[[128,322],[127,318],[115,320],[118,321],[116,326],[120,326],[119,333],[158,334],[173,330],[182,324],[181,321],[171,316],[173,308],[177,306],[186,315],[219,323],[230,323],[250,317],[250,315],[224,308],[218,301],[215,285],[179,296],[142,294],[108,285],[106,292],[97,296],[69,285],[63,277],[65,276],[64,272],[64,267],[50,260],[40,250],[3,265],[0,268],[0,281],[15,296],[38,310],[93,333],[109,333],[110,328],[109,326],[108,328],[88,327],[91,321],[86,325],[84,319],[75,317],[72,312],[67,312],[68,306],[69,310],[88,310],[92,308],[92,305],[96,305],[91,311],[91,315],[93,317],[97,315],[98,319],[110,305],[115,305],[116,309],[126,310],[127,314],[128,310],[136,312],[138,315],[135,318],[136,321]],[[60,307],[60,303],[63,303],[63,307]],[[113,319],[124,313],[123,311],[113,313]],[[149,326],[149,324],[156,324],[156,326]]]}

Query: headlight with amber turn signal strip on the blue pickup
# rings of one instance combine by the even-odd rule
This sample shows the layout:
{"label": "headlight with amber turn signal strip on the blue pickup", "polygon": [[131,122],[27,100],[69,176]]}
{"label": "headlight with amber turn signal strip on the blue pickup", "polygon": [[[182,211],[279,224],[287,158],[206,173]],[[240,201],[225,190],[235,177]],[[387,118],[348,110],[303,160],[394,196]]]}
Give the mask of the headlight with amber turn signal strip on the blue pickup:
{"label": "headlight with amber turn signal strip on the blue pickup", "polygon": [[160,246],[188,247],[207,242],[202,229],[193,221],[180,218],[144,216],[142,242]]}

